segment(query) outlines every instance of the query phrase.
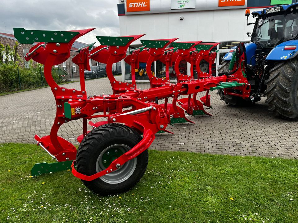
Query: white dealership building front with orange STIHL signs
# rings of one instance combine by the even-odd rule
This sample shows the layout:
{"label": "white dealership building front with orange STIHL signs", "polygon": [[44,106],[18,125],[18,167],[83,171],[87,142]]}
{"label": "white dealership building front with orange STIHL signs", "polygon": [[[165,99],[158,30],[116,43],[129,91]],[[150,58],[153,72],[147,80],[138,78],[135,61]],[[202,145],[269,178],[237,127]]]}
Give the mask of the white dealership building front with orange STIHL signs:
{"label": "white dealership building front with orange STIHL signs", "polygon": [[[130,48],[141,46],[140,40],[179,38],[177,41],[219,42],[219,50],[212,65],[213,75],[221,66],[223,56],[239,42],[249,42],[254,25],[247,25],[246,9],[259,11],[277,4],[290,4],[295,0],[119,0],[118,15],[120,35],[146,34],[135,41]],[[255,22],[252,16],[249,23]],[[123,81],[130,81],[130,66],[122,61]],[[136,78],[147,82],[144,76],[145,64],[136,70]],[[186,61],[179,69],[190,72]],[[200,65],[201,67],[201,65]],[[165,66],[156,61],[151,71],[160,77]],[[138,75],[141,72],[142,75]],[[173,68],[169,70],[173,72]],[[174,77],[175,75],[172,75]]]}

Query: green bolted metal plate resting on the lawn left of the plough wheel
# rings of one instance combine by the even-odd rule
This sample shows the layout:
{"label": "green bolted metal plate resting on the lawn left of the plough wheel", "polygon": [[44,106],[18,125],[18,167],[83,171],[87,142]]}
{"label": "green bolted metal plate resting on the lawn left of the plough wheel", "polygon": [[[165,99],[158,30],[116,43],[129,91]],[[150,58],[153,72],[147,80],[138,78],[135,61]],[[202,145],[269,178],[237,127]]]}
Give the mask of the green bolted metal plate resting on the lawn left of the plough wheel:
{"label": "green bolted metal plate resting on the lawn left of the plough wheel", "polygon": [[44,173],[54,173],[61,170],[71,169],[73,160],[55,163],[37,163],[31,169],[31,176],[39,176]]}

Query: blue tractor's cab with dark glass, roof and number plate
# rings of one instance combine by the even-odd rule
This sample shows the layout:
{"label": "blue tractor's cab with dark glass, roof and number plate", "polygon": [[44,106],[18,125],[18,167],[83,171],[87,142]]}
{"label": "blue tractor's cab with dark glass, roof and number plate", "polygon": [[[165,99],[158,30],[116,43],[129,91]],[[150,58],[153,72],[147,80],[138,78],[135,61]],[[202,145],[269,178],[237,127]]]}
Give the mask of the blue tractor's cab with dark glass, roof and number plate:
{"label": "blue tractor's cab with dark glass, roof and number plate", "polygon": [[[251,42],[258,49],[272,50],[282,42],[297,39],[298,3],[271,7],[252,13],[256,17]],[[248,17],[247,13],[246,16]]]}

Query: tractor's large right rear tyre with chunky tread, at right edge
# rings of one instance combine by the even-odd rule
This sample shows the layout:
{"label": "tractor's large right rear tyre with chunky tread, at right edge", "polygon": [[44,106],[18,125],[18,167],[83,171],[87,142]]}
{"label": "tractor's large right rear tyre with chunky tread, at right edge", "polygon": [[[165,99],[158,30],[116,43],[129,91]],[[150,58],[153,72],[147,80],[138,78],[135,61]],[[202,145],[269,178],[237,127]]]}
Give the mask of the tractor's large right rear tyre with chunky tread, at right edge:
{"label": "tractor's large right rear tyre with chunky tread, at right edge", "polygon": [[298,120],[298,59],[277,63],[265,81],[268,110],[275,116]]}

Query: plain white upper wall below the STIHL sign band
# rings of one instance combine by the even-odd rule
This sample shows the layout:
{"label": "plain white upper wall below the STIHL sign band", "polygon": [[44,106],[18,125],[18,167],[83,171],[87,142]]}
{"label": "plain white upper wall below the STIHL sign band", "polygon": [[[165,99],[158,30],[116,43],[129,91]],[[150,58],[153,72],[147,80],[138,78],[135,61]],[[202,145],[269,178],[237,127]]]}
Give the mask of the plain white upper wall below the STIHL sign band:
{"label": "plain white upper wall below the STIHL sign band", "polygon": [[[251,11],[259,11],[254,9]],[[183,20],[179,17],[183,16]],[[122,15],[120,35],[146,34],[142,39],[177,38],[178,41],[227,42],[249,41],[245,9]],[[249,22],[253,22],[252,16]],[[140,44],[140,40],[134,44]]]}

